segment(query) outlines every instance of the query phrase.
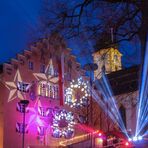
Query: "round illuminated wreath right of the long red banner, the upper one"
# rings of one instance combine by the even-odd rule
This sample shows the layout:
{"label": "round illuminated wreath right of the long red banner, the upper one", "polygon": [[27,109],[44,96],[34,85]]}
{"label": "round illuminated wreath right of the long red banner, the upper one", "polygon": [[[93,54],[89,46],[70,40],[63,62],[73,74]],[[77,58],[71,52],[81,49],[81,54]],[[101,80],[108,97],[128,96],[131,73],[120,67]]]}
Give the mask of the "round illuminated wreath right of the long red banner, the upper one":
{"label": "round illuminated wreath right of the long red banner, the upper one", "polygon": [[90,96],[88,85],[88,82],[84,82],[82,78],[78,78],[77,81],[72,80],[65,92],[65,104],[70,107],[87,106]]}

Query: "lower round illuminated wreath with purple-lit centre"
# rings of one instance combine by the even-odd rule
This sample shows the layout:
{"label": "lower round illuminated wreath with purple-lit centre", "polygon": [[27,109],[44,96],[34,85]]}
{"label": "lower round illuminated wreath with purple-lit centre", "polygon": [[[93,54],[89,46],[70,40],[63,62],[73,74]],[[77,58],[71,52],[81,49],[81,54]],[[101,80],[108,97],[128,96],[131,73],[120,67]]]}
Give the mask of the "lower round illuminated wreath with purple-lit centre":
{"label": "lower round illuminated wreath with purple-lit centre", "polygon": [[70,138],[74,135],[74,115],[66,110],[61,110],[53,118],[53,137]]}

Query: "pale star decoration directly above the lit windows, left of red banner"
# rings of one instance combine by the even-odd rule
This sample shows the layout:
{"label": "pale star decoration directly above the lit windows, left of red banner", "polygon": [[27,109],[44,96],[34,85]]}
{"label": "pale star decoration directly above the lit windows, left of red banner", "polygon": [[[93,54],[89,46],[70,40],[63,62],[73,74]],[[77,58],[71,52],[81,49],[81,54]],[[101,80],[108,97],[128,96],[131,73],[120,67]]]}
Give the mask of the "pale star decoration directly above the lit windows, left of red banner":
{"label": "pale star decoration directly above the lit windows, left of red banner", "polygon": [[54,68],[53,68],[52,59],[49,60],[49,64],[47,65],[45,69],[45,73],[33,73],[33,75],[39,81],[44,80],[44,81],[53,82],[53,83],[58,82],[58,77],[54,76]]}

